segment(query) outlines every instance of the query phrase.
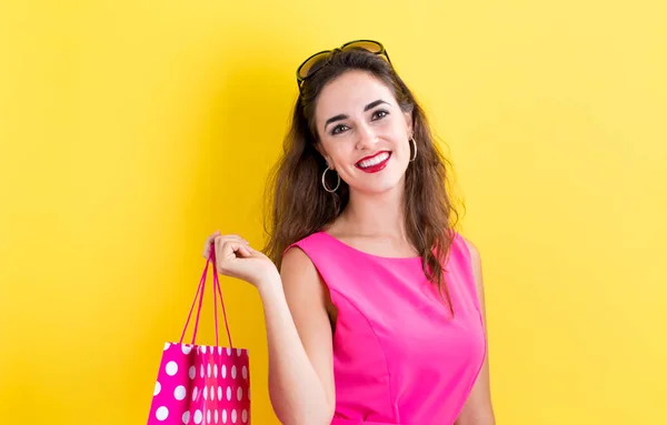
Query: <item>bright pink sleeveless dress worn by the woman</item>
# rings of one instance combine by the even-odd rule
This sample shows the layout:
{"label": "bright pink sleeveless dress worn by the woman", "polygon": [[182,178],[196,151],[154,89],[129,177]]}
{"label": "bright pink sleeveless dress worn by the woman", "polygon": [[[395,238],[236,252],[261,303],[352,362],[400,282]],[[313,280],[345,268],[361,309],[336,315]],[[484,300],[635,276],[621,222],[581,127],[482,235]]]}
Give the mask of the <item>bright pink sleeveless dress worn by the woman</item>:
{"label": "bright pink sleeveless dress worn by the woman", "polygon": [[338,308],[331,424],[454,424],[487,348],[462,237],[445,264],[454,318],[419,257],[371,255],[326,232],[293,246],[310,257]]}

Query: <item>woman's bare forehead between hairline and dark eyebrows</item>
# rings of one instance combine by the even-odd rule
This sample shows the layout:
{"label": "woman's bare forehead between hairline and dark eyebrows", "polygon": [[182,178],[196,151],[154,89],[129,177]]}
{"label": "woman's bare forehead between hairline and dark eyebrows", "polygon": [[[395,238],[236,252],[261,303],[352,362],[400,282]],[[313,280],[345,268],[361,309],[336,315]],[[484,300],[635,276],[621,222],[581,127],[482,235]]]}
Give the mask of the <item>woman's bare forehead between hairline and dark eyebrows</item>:
{"label": "woman's bare forehead between hairline and dark eyebrows", "polygon": [[348,71],[325,85],[317,100],[316,119],[320,122],[330,115],[359,112],[378,99],[396,104],[391,90],[381,80],[368,72]]}

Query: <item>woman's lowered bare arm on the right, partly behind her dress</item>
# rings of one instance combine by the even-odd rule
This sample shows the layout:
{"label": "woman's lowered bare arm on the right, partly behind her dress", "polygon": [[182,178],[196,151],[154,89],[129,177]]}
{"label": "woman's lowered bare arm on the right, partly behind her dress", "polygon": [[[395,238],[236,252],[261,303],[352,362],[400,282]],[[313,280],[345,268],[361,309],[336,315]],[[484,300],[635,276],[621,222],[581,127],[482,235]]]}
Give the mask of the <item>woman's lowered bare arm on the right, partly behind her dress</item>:
{"label": "woman's lowered bare arm on the right, partly behind her dress", "polygon": [[[486,330],[486,307],[484,297],[484,280],[481,274],[481,259],[477,247],[470,242],[466,241],[468,250],[470,251],[470,257],[472,261],[472,273],[475,275],[475,283],[477,285],[477,295],[479,297],[479,305],[481,307],[481,315],[484,321],[484,327]],[[468,396],[464,409],[459,417],[456,419],[455,425],[495,425],[496,418],[494,415],[494,407],[491,405],[491,389],[489,380],[489,360],[488,354],[484,360],[481,371],[477,377],[477,382],[472,386],[472,391]]]}

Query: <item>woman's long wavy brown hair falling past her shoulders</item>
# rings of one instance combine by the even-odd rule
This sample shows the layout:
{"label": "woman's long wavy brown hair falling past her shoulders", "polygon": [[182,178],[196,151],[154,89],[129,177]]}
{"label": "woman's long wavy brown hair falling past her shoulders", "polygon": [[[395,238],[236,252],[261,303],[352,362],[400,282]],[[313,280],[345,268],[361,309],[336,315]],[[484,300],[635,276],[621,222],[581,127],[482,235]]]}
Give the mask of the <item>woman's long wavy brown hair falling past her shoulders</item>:
{"label": "woman's long wavy brown hair falling past her shoulders", "polygon": [[[322,88],[351,70],[370,73],[394,93],[404,112],[412,115],[417,158],[406,171],[404,212],[407,235],[421,256],[426,276],[445,293],[454,314],[444,274],[444,259],[449,254],[458,212],[448,193],[450,162],[434,141],[422,108],[396,73],[379,55],[365,50],[335,50],[328,63],[309,75],[296,102],[292,122],[283,142],[283,154],[271,170],[266,185],[265,253],[280,269],[282,254],[292,243],[332,223],[349,201],[349,186],[344,181],[336,193],[325,191],[321,175],[327,168],[318,152],[319,138],[315,109]],[[332,173],[329,173],[332,174]],[[334,188],[336,181],[327,184]]]}

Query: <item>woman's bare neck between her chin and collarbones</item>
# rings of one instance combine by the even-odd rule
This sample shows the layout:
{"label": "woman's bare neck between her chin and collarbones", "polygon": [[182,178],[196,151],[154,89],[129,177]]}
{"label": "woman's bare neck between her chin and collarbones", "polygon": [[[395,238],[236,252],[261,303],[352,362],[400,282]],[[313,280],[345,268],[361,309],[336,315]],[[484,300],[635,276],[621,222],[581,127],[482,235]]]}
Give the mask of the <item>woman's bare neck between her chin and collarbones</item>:
{"label": "woman's bare neck between her chin and collarbones", "polygon": [[402,184],[377,194],[350,191],[339,220],[345,233],[406,240]]}

